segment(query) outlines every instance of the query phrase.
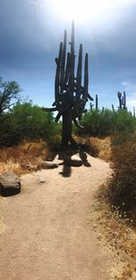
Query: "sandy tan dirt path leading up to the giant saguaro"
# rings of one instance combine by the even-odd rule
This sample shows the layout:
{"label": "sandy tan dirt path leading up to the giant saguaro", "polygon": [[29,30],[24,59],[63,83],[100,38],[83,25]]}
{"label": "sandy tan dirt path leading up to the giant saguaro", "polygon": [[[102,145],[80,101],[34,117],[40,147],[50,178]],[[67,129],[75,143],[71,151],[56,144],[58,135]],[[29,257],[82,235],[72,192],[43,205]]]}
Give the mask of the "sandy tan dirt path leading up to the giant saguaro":
{"label": "sandy tan dirt path leading up to the giant saguaro", "polygon": [[2,198],[1,280],[111,279],[112,253],[91,221],[93,193],[110,169],[91,156],[88,163],[69,175],[63,166],[25,175],[22,193]]}

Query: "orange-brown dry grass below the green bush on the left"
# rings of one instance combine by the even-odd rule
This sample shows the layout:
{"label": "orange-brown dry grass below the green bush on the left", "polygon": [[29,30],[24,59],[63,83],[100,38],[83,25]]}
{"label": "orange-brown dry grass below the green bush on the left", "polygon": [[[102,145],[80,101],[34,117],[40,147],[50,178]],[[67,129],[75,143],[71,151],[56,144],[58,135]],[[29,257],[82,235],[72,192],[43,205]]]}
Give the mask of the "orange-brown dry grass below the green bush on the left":
{"label": "orange-brown dry grass below the green bush on the left", "polygon": [[0,174],[15,171],[17,175],[39,169],[43,160],[49,157],[49,149],[42,140],[23,142],[15,147],[0,149]]}

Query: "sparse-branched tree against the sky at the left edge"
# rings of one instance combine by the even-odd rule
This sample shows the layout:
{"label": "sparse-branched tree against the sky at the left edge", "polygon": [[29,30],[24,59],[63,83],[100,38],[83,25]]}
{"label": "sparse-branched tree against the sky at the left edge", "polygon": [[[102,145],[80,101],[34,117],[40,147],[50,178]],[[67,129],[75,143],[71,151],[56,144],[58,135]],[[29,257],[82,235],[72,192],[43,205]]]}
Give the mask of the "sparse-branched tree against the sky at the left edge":
{"label": "sparse-branched tree against the sky at the left edge", "polygon": [[17,82],[3,82],[2,77],[0,77],[0,116],[5,110],[15,105],[12,100],[18,100],[19,92],[22,90]]}

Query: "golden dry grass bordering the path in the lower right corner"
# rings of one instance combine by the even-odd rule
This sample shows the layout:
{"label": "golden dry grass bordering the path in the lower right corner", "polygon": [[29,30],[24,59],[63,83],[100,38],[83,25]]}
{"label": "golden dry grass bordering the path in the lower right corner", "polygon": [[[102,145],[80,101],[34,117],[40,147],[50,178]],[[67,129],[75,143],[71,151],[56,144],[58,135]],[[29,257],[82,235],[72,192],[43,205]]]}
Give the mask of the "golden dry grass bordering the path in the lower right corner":
{"label": "golden dry grass bordering the path in the lower right corner", "polygon": [[121,218],[118,208],[111,208],[105,201],[106,191],[107,188],[102,186],[92,205],[93,225],[97,227],[99,239],[103,239],[106,245],[111,246],[118,257],[113,279],[135,280],[136,229],[128,224],[127,218]]}

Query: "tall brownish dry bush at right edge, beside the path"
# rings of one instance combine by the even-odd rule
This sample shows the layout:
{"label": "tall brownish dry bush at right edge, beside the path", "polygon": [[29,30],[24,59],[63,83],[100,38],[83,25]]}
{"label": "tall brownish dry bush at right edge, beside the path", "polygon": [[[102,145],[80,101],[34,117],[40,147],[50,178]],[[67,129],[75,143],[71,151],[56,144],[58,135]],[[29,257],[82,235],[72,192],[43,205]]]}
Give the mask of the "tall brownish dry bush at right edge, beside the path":
{"label": "tall brownish dry bush at right edge, beside the path", "polygon": [[[119,144],[118,140],[120,139]],[[128,214],[136,211],[136,135],[112,140],[113,175],[109,183],[112,205]]]}

